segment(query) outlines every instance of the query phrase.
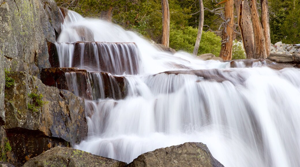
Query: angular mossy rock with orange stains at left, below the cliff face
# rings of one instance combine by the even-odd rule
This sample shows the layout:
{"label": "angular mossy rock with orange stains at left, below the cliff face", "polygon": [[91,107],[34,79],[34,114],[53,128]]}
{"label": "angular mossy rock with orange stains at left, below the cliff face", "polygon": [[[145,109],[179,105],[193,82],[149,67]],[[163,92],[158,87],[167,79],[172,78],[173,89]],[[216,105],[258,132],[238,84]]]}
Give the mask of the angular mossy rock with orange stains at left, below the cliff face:
{"label": "angular mossy rock with orange stains at left, below the cliff face", "polygon": [[12,162],[25,163],[57,145],[85,138],[85,104],[67,90],[44,85],[26,72],[10,72],[14,85],[5,89],[5,130]]}

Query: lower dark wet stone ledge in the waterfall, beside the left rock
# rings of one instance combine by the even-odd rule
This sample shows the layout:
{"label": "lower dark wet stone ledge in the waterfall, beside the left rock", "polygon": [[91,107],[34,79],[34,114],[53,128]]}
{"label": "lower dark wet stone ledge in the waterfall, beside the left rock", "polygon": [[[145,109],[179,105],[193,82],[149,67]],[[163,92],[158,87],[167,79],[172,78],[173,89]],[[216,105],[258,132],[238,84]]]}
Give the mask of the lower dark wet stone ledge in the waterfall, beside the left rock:
{"label": "lower dark wet stone ledge in the waterfall, beside the left rock", "polygon": [[108,72],[88,72],[78,68],[42,69],[41,80],[48,86],[69,90],[87,100],[123,99],[127,94],[126,79]]}

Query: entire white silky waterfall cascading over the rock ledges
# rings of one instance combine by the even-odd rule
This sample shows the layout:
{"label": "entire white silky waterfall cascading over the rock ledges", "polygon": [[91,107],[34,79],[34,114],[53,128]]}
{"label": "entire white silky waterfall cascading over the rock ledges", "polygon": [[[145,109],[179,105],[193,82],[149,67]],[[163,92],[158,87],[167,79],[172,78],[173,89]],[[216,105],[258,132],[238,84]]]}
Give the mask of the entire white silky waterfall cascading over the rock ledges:
{"label": "entire white silky waterfall cascading over the rock ledges", "polygon": [[[73,56],[74,43],[82,39],[134,42],[140,50],[111,54],[108,68],[97,62],[98,47],[80,50],[79,62],[90,63],[80,68],[90,71],[91,83],[97,84],[92,86],[94,100],[85,100],[88,136],[76,148],[130,163],[156,148],[203,142],[224,166],[300,166],[300,70],[275,71],[263,61],[236,62],[239,68],[230,68],[229,62],[171,55],[117,25],[67,13],[73,18],[64,19],[56,44],[65,66],[79,59]],[[82,28],[85,33],[76,31]],[[91,54],[95,60],[88,58]],[[126,97],[105,98],[104,78],[97,71],[125,78]],[[113,79],[107,83],[116,87]]]}

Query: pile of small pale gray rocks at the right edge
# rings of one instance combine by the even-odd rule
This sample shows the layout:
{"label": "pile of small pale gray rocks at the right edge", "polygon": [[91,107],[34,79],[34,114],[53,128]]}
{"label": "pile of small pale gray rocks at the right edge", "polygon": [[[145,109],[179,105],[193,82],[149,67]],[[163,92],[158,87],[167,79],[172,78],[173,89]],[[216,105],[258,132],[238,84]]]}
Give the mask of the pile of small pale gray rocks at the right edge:
{"label": "pile of small pale gray rocks at the right edge", "polygon": [[300,53],[300,45],[285,44],[280,41],[275,43],[274,45],[271,44],[270,53],[290,54],[290,55],[294,53]]}

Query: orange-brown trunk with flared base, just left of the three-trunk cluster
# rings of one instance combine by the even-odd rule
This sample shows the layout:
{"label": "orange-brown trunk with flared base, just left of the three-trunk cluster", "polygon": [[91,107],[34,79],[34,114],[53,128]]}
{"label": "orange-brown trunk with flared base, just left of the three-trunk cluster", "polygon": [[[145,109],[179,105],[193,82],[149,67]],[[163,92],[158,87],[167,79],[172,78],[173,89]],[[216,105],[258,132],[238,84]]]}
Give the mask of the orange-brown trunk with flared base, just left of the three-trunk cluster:
{"label": "orange-brown trunk with flared base, just left of the three-trunk cluster", "polygon": [[220,57],[223,60],[231,60],[232,57],[232,37],[234,28],[234,7],[233,0],[229,0],[225,3],[225,18],[230,19],[225,23],[223,28],[222,46],[220,51]]}

